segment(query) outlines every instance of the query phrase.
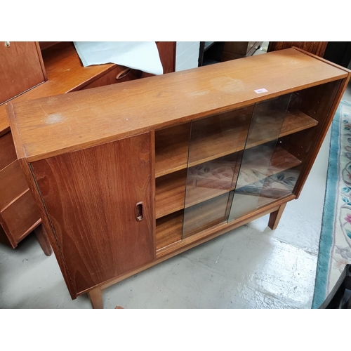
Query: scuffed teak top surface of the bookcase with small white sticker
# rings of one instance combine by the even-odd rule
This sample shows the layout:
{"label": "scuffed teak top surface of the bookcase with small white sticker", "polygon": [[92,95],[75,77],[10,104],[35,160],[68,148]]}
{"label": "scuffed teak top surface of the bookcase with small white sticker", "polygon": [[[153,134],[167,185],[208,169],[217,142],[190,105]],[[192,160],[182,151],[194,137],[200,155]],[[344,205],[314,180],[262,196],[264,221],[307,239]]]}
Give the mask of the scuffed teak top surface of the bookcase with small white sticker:
{"label": "scuffed teak top surface of the bookcase with small white sticker", "polygon": [[[18,157],[36,161],[347,77],[295,48],[8,104]],[[260,91],[264,92],[260,92]],[[258,92],[257,92],[258,91]]]}

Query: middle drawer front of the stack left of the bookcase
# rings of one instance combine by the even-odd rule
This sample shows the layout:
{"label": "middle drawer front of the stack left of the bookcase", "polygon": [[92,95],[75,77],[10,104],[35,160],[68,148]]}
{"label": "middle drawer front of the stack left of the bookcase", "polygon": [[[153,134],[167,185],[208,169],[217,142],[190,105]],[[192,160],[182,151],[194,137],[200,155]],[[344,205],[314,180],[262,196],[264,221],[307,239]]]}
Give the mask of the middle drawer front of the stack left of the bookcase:
{"label": "middle drawer front of the stack left of the bookcase", "polygon": [[16,159],[0,171],[0,211],[27,189],[20,162]]}

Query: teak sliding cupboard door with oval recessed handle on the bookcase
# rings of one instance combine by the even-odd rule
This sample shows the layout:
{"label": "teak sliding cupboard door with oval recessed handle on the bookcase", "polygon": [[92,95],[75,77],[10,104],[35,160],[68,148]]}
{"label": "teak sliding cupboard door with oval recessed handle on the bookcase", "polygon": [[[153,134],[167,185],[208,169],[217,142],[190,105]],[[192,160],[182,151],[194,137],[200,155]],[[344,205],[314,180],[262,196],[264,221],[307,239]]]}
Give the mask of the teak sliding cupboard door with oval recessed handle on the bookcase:
{"label": "teak sliding cupboard door with oval recessed handle on the bookcase", "polygon": [[34,161],[75,292],[154,258],[151,135]]}

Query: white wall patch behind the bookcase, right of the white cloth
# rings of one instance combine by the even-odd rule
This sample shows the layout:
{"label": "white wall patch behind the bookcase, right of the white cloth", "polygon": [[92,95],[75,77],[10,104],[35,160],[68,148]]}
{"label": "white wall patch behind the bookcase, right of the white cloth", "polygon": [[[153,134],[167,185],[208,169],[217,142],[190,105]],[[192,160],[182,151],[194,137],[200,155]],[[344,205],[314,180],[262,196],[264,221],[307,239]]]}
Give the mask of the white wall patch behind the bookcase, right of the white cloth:
{"label": "white wall patch behind the bookcase, right of the white cloth", "polygon": [[177,41],[176,72],[199,65],[199,41]]}

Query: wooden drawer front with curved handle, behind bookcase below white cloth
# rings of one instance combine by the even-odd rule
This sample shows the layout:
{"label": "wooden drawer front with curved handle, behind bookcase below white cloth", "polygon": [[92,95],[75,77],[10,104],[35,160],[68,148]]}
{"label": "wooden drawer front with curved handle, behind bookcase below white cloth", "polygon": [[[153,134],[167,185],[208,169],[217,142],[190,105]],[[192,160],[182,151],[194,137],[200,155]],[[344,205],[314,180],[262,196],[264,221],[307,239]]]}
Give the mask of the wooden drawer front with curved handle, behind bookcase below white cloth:
{"label": "wooden drawer front with curved handle, behind bookcase below white cloth", "polygon": [[91,83],[87,84],[81,90],[97,88],[98,86],[107,86],[110,84],[123,83],[124,81],[132,81],[138,79],[140,72],[136,69],[130,69],[128,67],[117,65],[112,71],[107,72],[102,77],[95,79]]}

